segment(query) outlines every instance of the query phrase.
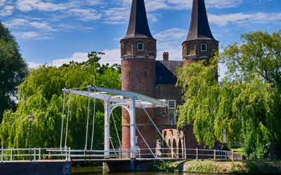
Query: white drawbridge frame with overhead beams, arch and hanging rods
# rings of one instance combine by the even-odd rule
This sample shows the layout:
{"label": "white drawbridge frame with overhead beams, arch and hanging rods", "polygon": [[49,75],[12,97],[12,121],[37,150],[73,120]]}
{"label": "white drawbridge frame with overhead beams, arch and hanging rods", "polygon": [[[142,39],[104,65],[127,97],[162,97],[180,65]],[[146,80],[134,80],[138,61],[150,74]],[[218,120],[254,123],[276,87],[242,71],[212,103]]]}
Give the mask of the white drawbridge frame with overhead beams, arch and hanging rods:
{"label": "white drawbridge frame with overhead beams, arch and hanging rods", "polygon": [[[136,107],[142,109],[148,108],[159,108],[159,107],[166,107],[169,104],[166,103],[166,100],[158,100],[152,97],[147,97],[143,94],[138,94],[136,92],[129,92],[124,90],[114,90],[108,89],[104,87],[93,87],[91,85],[88,86],[89,91],[81,91],[77,89],[63,89],[64,97],[65,93],[70,94],[79,94],[85,97],[89,97],[89,104],[90,98],[93,99],[101,99],[105,102],[105,140],[104,140],[104,153],[105,158],[110,158],[110,115],[112,111],[117,108],[118,106],[124,107],[129,112],[130,116],[130,140],[131,140],[131,159],[136,158]],[[91,92],[93,90],[93,92]],[[115,94],[115,95],[112,95]],[[67,148],[67,129],[68,129],[68,120],[70,114],[70,98],[68,102],[68,110],[67,110],[67,126],[65,131],[65,148]],[[96,106],[96,101],[95,101]],[[63,115],[65,111],[65,100],[63,104]],[[145,111],[146,112],[146,111]],[[94,107],[95,113],[95,107]],[[146,112],[147,113],[147,112]],[[148,114],[148,113],[147,113]],[[94,114],[95,115],[95,114]],[[150,116],[148,115],[150,118]],[[93,116],[94,118],[94,116]],[[150,118],[151,120],[151,118]],[[152,121],[153,123],[153,121]],[[153,123],[155,124],[155,123]],[[87,150],[87,134],[88,134],[88,126],[89,126],[89,106],[88,106],[88,117],[87,117],[87,126],[86,126],[86,144],[85,144],[85,151]],[[93,120],[93,127],[94,127],[94,120]],[[155,125],[156,127],[156,125]],[[157,127],[156,127],[157,129]],[[157,129],[158,130],[158,129]],[[159,132],[159,130],[158,130]],[[141,134],[141,133],[140,133]],[[161,132],[159,134],[162,135]],[[142,136],[141,136],[142,137]],[[144,139],[144,138],[143,138]],[[164,139],[164,138],[163,138]],[[62,140],[63,140],[63,122],[62,122],[62,130],[61,130],[61,137],[60,137],[60,149],[62,149]],[[146,142],[146,141],[145,141]],[[92,144],[93,145],[93,133],[92,133]],[[151,150],[150,150],[151,151]]]}

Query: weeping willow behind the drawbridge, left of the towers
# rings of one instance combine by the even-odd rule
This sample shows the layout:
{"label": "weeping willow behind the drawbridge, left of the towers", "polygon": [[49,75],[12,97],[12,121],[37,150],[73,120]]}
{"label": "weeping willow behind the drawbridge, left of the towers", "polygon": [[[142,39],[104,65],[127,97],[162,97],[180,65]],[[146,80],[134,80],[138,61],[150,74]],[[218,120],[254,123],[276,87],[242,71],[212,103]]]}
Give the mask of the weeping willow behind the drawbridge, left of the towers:
{"label": "weeping willow behind the drawbridge, left of the towers", "polygon": [[[40,66],[32,69],[30,76],[19,86],[17,111],[5,111],[0,126],[1,145],[4,148],[29,148],[29,123],[27,116],[32,113],[32,148],[59,148],[60,132],[63,116],[63,88],[86,87],[96,85],[121,89],[121,69],[113,66],[100,65],[102,52],[89,53],[89,60],[83,63],[70,62],[63,66]],[[67,121],[68,94],[65,95],[64,129]],[[68,126],[67,146],[72,149],[84,149],[86,141],[86,123],[88,98],[71,94],[70,118]],[[93,149],[103,148],[103,101],[96,100]],[[93,129],[94,99],[90,102],[89,133],[87,148],[91,148]],[[121,109],[113,112],[117,130],[121,133]],[[110,134],[115,147],[119,146],[115,128]],[[63,147],[65,146],[65,130]]]}

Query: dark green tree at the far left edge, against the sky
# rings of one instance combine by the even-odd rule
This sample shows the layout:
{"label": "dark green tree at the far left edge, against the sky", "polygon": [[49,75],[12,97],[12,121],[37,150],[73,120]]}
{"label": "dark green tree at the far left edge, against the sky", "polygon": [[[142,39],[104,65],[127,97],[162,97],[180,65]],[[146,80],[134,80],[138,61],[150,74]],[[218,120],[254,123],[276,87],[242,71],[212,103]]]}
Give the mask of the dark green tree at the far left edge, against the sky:
{"label": "dark green tree at the far left edge, against the sky", "polygon": [[15,37],[0,22],[0,123],[5,109],[16,108],[13,98],[27,73],[27,64]]}

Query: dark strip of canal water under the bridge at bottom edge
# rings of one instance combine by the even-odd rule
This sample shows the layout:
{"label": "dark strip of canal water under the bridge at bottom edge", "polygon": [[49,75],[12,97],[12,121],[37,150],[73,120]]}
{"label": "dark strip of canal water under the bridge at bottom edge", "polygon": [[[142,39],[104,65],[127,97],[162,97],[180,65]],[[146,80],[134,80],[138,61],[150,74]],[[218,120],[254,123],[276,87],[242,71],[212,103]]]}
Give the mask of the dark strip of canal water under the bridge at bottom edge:
{"label": "dark strip of canal water under the bridge at bottom edge", "polygon": [[[72,167],[73,175],[98,175],[103,174],[103,167]],[[105,175],[202,175],[196,173],[174,173],[174,172],[118,172],[118,173],[104,173]]]}

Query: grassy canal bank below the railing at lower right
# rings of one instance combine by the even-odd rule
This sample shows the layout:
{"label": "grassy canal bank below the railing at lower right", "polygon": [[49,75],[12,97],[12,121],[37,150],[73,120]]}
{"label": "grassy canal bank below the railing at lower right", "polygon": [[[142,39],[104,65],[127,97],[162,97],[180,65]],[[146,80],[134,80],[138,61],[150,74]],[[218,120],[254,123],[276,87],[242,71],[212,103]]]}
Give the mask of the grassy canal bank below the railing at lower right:
{"label": "grassy canal bank below the railing at lower right", "polygon": [[159,162],[162,170],[221,174],[281,174],[281,160],[185,160]]}

